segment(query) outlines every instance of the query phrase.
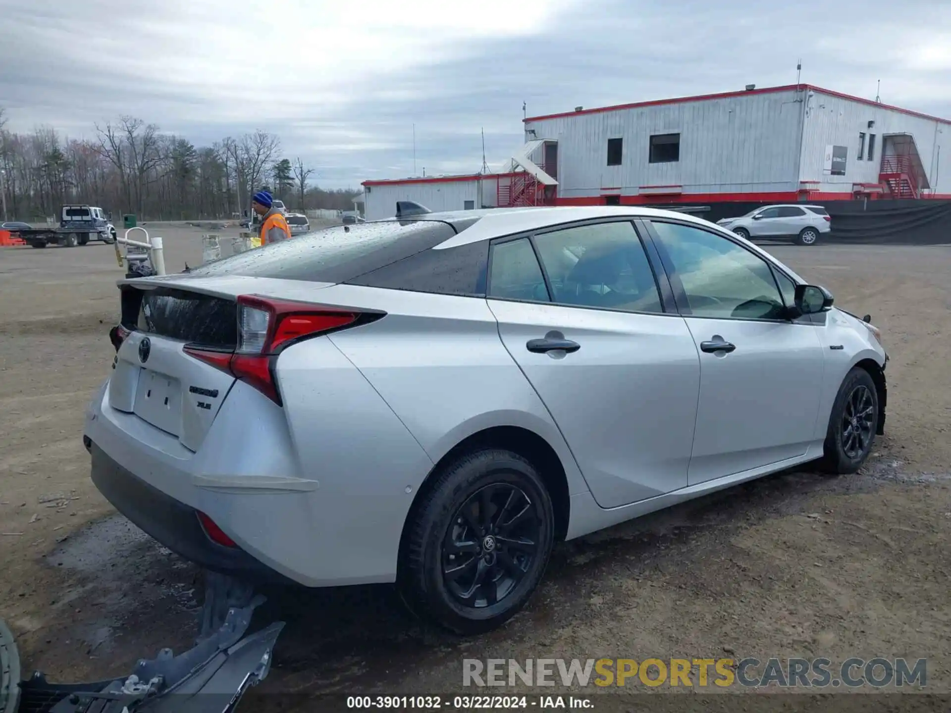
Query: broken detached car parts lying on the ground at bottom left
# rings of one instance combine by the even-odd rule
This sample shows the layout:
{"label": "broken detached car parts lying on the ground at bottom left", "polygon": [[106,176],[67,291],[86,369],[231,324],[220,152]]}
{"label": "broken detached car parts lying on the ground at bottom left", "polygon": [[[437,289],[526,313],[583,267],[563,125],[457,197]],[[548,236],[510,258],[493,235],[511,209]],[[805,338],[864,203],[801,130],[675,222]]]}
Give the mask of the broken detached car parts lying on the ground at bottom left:
{"label": "broken detached car parts lying on the ground at bottom left", "polygon": [[50,684],[34,673],[19,684],[19,657],[10,630],[0,622],[3,684],[0,713],[229,713],[244,691],[259,684],[271,667],[274,645],[283,628],[276,622],[244,636],[256,607],[232,607],[223,625],[175,656],[163,649],[140,661],[126,677],[87,684]]}

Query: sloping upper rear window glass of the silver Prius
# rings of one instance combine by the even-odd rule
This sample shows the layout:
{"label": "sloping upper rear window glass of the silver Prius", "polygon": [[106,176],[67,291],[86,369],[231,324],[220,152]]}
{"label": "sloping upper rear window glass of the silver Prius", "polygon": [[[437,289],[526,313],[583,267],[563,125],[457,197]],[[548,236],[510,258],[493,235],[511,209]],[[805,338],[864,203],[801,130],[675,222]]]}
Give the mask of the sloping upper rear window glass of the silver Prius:
{"label": "sloping upper rear window glass of the silver Prius", "polygon": [[252,278],[343,282],[404,260],[456,235],[438,221],[380,221],[338,225],[216,260],[192,270],[196,278]]}

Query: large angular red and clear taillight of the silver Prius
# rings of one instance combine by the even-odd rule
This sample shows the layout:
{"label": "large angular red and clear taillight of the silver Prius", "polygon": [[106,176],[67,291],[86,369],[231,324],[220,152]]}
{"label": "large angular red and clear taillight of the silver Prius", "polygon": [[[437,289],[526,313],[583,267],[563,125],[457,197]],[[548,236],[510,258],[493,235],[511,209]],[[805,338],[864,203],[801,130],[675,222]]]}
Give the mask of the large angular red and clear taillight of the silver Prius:
{"label": "large angular red and clear taillight of the silver Prius", "polygon": [[[371,316],[306,302],[243,295],[238,298],[238,348],[234,352],[199,346],[186,346],[184,351],[241,379],[280,406],[273,362],[281,350],[299,339],[333,332],[367,317]],[[382,314],[372,316],[379,317]]]}

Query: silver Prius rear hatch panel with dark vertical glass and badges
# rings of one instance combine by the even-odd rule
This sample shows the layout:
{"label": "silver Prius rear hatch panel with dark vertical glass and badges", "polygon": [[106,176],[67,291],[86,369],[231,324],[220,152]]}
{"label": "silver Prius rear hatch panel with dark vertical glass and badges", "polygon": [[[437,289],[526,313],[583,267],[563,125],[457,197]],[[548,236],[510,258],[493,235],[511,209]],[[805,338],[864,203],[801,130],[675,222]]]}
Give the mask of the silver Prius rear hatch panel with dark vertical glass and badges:
{"label": "silver Prius rear hatch panel with dark vertical glass and badges", "polygon": [[197,451],[235,377],[188,356],[184,347],[233,352],[236,301],[171,286],[123,285],[122,308],[124,338],[109,381],[109,405]]}

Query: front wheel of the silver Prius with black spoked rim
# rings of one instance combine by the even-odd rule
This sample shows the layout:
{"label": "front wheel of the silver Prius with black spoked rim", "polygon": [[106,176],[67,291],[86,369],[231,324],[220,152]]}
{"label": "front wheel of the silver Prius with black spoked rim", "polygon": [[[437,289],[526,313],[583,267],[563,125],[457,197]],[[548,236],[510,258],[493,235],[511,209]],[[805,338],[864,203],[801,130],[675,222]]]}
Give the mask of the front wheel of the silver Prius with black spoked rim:
{"label": "front wheel of the silver Prius with black spoked rim", "polygon": [[825,434],[825,472],[844,475],[862,468],[875,443],[879,425],[879,394],[862,367],[845,375],[832,405]]}

